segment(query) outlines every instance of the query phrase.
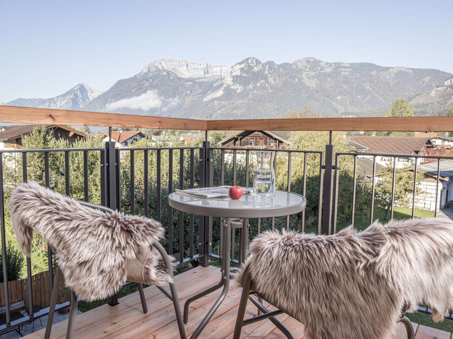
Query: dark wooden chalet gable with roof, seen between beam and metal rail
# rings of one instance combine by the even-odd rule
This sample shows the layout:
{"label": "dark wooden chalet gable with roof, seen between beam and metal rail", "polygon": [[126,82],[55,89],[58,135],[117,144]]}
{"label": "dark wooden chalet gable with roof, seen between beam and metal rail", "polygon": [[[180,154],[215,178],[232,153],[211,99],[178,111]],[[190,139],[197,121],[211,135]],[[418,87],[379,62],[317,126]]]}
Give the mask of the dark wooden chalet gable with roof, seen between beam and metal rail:
{"label": "dark wooden chalet gable with roof, seen between beam and metal rail", "polygon": [[232,148],[286,148],[290,131],[239,131],[219,142]]}

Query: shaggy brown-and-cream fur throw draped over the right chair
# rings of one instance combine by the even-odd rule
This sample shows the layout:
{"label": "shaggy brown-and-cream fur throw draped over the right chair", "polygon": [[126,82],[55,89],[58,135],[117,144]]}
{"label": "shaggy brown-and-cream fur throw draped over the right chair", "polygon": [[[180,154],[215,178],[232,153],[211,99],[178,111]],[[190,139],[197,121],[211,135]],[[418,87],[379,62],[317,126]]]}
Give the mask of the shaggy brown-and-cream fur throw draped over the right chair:
{"label": "shaggy brown-and-cream fur throw draped over the right chair", "polygon": [[[252,288],[305,325],[308,339],[386,339],[404,301],[433,319],[453,306],[453,222],[374,222],[335,235],[265,232],[242,266]],[[305,338],[305,337],[304,337]]]}

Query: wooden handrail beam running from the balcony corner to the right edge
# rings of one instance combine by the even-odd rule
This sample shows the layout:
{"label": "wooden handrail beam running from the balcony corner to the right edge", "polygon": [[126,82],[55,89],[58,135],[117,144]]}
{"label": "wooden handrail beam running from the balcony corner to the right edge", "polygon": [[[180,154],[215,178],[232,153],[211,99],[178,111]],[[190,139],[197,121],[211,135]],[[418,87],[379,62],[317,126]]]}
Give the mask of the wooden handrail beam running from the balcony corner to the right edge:
{"label": "wooden handrail beam running from the balcony corner to the right edge", "polygon": [[208,131],[453,131],[453,117],[208,120]]}

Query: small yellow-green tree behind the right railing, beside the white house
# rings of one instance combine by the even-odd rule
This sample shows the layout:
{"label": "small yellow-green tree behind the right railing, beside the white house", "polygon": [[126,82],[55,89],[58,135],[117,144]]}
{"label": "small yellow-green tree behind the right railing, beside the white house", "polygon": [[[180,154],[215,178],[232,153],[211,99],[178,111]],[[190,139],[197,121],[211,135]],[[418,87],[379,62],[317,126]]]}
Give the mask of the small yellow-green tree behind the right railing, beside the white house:
{"label": "small yellow-green tree behind the right railing, beside the white house", "polygon": [[[382,167],[379,171],[379,177],[376,184],[376,198],[379,205],[386,207],[386,216],[384,219],[388,219],[391,197],[392,197],[392,184],[393,184],[393,163],[389,163]],[[417,181],[415,185],[415,196],[424,191],[420,188],[420,184],[423,182],[423,172],[417,172]],[[399,207],[410,207],[412,206],[412,193],[414,190],[414,169],[409,167],[397,168],[395,172],[395,192],[394,202]]]}

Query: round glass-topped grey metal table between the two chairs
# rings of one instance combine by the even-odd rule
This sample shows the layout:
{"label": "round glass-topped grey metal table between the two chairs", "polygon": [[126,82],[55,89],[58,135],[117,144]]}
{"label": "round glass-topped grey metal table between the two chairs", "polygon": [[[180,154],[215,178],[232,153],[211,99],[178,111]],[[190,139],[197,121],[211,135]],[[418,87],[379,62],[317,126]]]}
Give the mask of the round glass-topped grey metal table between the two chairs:
{"label": "round glass-topped grey metal table between the two chairs", "polygon": [[[222,293],[207,312],[202,322],[193,332],[191,339],[195,339],[207,325],[212,315],[217,311],[226,297],[230,286],[230,247],[231,228],[241,228],[239,236],[240,259],[245,260],[248,248],[249,218],[281,217],[302,212],[305,209],[307,200],[300,194],[275,191],[275,196],[264,199],[256,198],[255,194],[244,194],[240,199],[232,200],[230,197],[222,198],[197,198],[178,192],[169,195],[169,205],[179,211],[198,214],[207,217],[221,218],[222,235],[222,278],[220,281],[202,292],[188,298],[184,303],[184,323],[188,322],[189,304],[223,286]],[[241,218],[241,219],[236,219]],[[239,221],[241,220],[241,221]],[[242,256],[241,256],[242,252]]]}

